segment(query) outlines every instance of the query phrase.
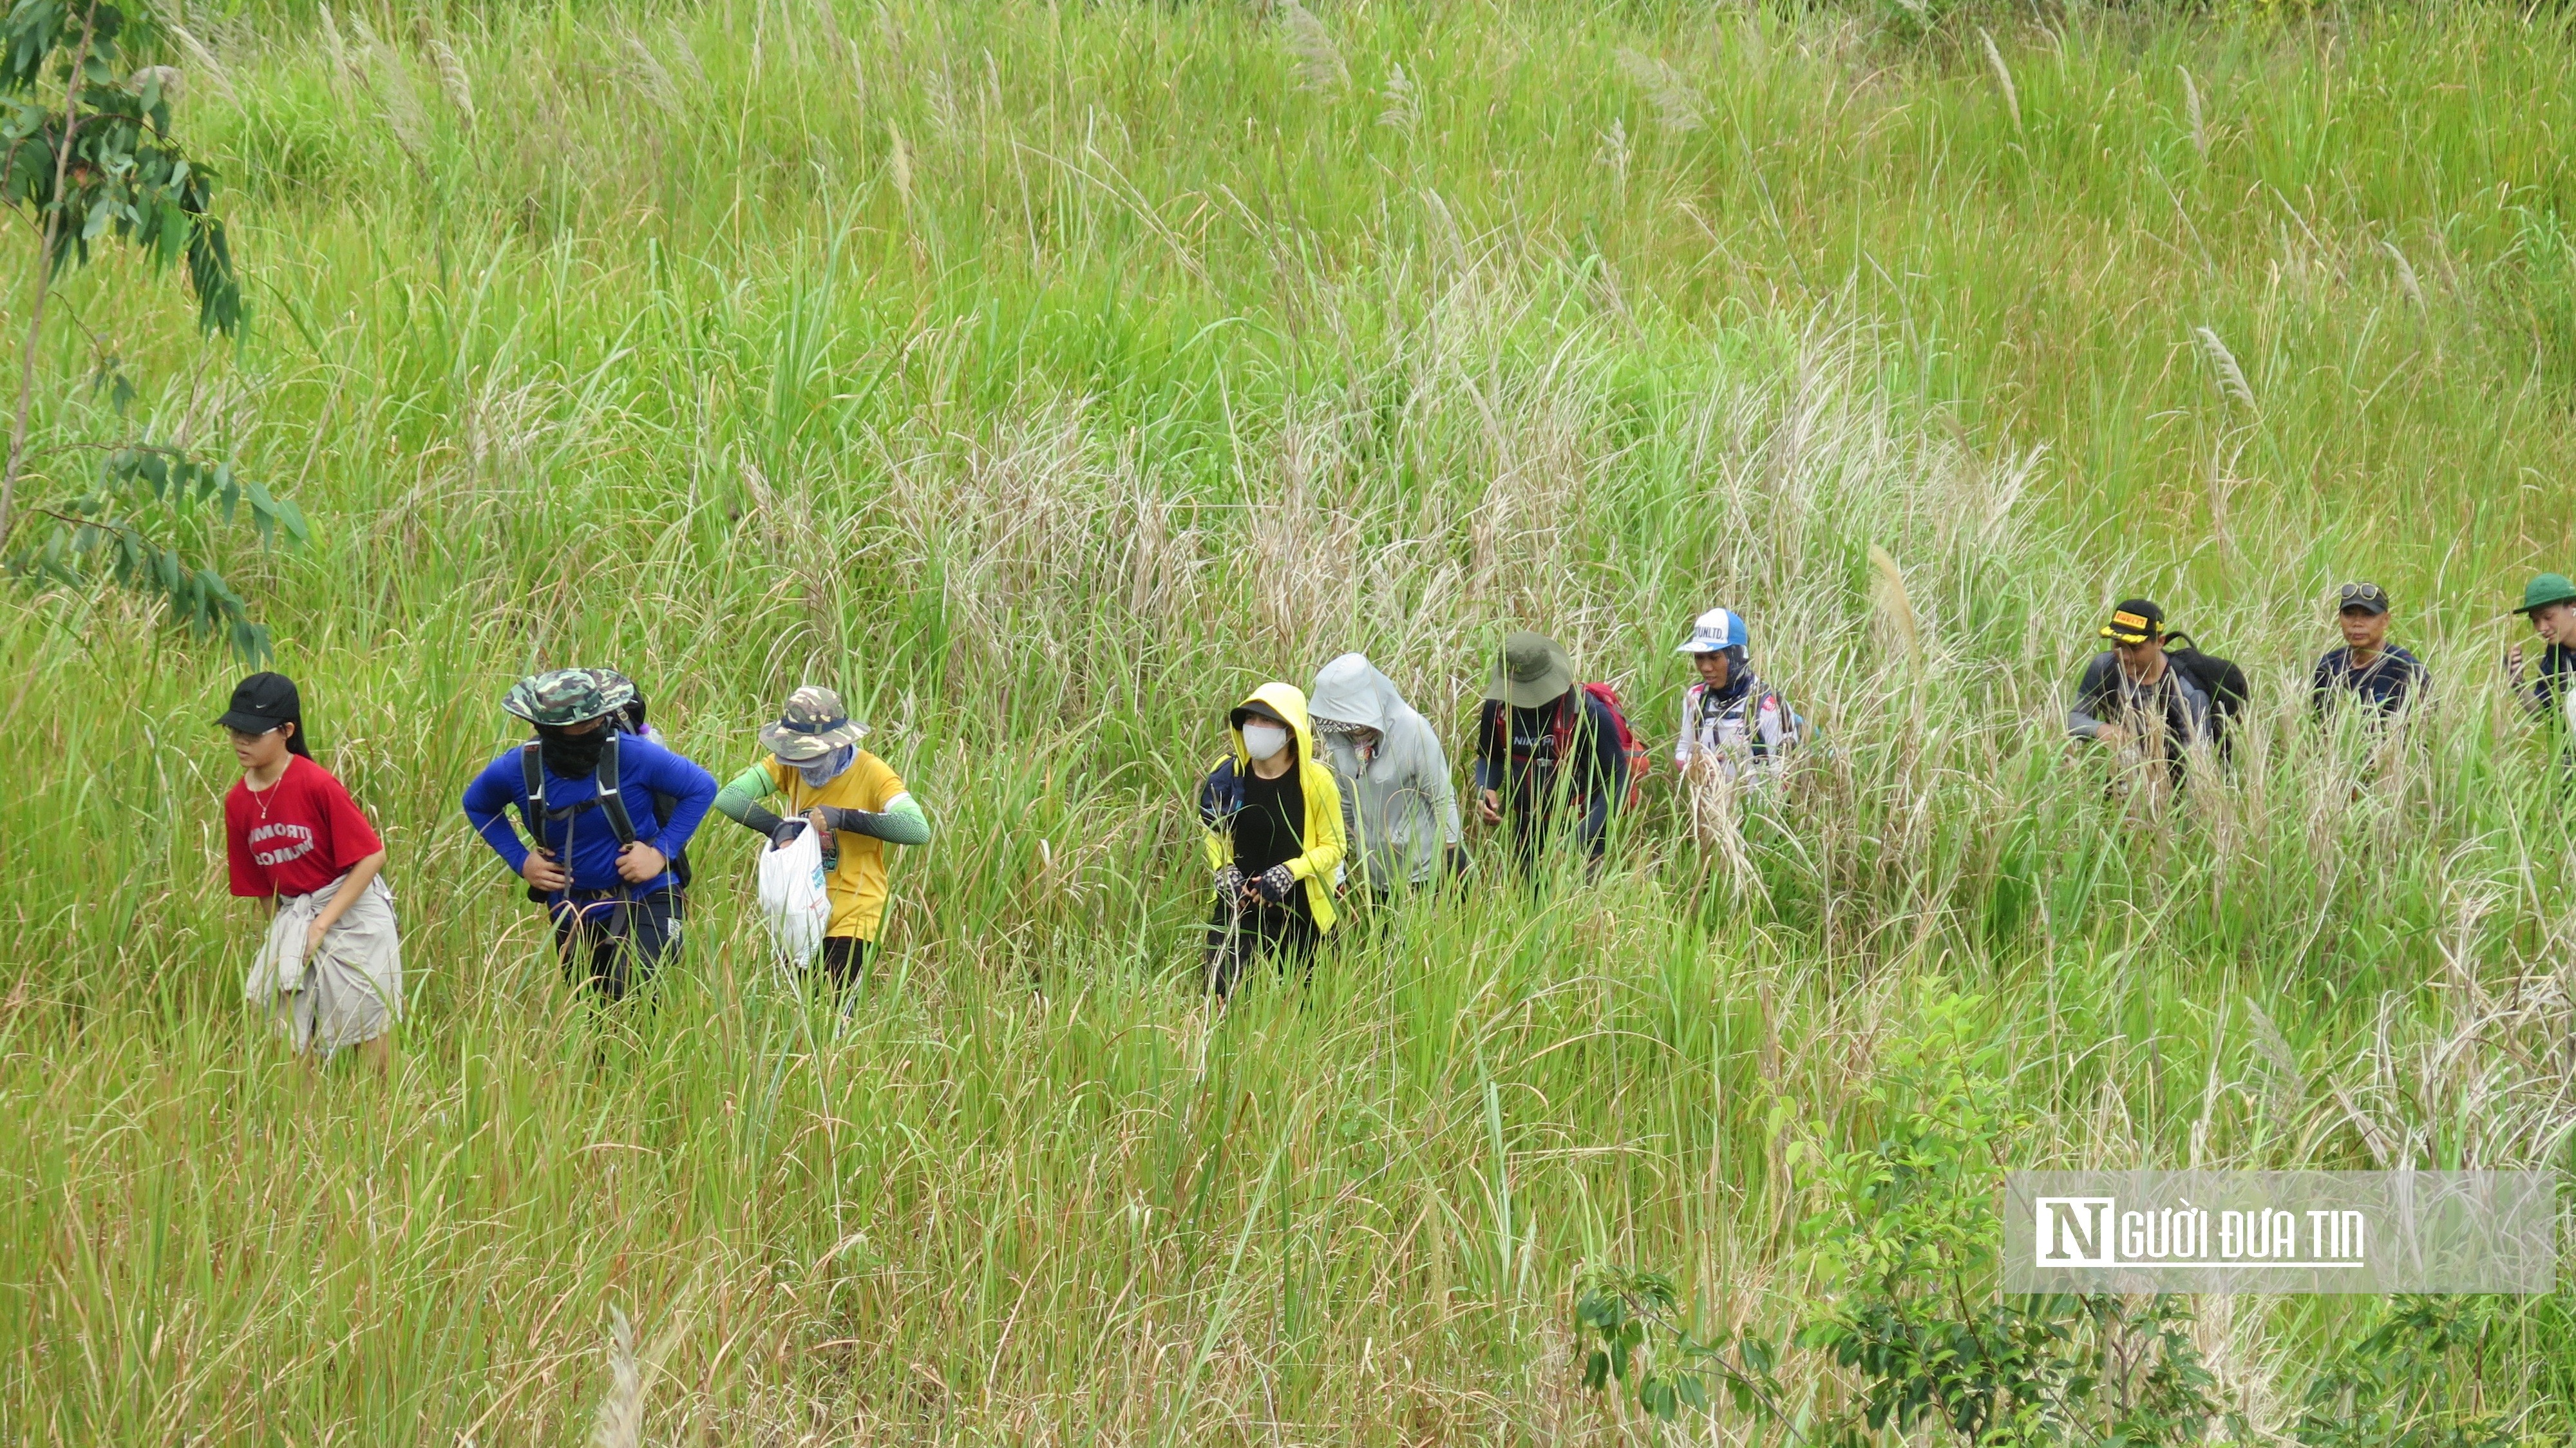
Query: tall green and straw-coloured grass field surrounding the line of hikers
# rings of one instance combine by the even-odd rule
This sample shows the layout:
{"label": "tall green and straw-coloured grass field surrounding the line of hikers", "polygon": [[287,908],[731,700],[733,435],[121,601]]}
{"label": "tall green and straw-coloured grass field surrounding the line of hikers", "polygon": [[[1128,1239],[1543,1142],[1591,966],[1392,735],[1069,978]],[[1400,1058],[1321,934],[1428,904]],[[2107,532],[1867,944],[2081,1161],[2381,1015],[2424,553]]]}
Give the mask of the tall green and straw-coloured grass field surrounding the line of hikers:
{"label": "tall green and straw-coloured grass field surrounding the line of hikers", "polygon": [[[247,322],[64,273],[21,490],[147,435],[312,520],[191,538],[384,827],[410,1010],[374,1080],[242,1007],[242,662],[0,593],[5,1443],[1790,1443],[1589,1391],[1574,1309],[1829,1311],[1896,1062],[1984,1082],[1996,1180],[2568,1159],[2576,796],[2501,670],[2576,567],[2561,5],[165,10]],[[2344,580],[2403,729],[2311,719]],[[2254,683],[2179,796],[2063,729],[2141,593]],[[1716,605],[1816,739],[1695,809]],[[1517,626],[1664,757],[1602,868],[1471,827],[1211,1007],[1226,709],[1360,649],[1463,773]],[[564,984],[459,812],[559,665],[719,778],[799,683],[866,714],[935,837],[855,995],[714,814],[649,1000]],[[2391,1311],[2187,1306],[2233,1443]],[[2504,1438],[2409,1443],[2576,1433],[2568,1299],[2496,1311],[2416,1402]]]}

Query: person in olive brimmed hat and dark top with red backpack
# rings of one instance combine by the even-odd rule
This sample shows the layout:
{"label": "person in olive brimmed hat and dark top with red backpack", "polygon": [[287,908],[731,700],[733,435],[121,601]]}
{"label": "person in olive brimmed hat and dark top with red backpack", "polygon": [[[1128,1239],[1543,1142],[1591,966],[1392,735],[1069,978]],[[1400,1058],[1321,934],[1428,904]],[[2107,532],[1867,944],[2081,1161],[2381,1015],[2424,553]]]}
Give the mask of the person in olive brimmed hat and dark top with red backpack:
{"label": "person in olive brimmed hat and dark top with red backpack", "polygon": [[1574,680],[1574,660],[1528,629],[1502,639],[1502,660],[1476,716],[1476,814],[1512,824],[1512,855],[1538,868],[1556,817],[1574,817],[1589,858],[1607,848],[1610,812],[1628,794],[1623,727]]}

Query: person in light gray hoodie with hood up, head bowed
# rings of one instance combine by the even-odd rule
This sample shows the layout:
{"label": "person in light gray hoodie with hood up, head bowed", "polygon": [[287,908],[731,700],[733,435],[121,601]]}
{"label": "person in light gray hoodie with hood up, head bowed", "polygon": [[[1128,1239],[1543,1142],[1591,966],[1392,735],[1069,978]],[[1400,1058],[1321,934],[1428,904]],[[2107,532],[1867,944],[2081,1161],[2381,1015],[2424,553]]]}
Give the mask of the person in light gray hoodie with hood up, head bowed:
{"label": "person in light gray hoodie with hood up, head bowed", "polygon": [[1463,868],[1448,750],[1396,693],[1396,680],[1365,654],[1342,654],[1316,670],[1306,711],[1342,786],[1358,884],[1370,897],[1386,897],[1430,884],[1443,863],[1450,873]]}

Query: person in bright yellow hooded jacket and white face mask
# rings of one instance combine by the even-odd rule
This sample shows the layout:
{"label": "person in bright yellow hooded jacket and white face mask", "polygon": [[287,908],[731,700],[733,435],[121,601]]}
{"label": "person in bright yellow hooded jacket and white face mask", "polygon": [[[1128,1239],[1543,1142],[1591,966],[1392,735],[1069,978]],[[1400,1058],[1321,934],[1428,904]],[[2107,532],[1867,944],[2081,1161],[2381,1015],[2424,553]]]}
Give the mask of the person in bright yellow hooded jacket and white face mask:
{"label": "person in bright yellow hooded jacket and white face mask", "polygon": [[1332,884],[1342,868],[1342,791],[1314,757],[1306,693],[1293,683],[1255,688],[1226,716],[1234,752],[1198,786],[1208,827],[1216,915],[1208,920],[1206,979],[1218,1000],[1244,966],[1270,956],[1280,974],[1296,961],[1314,976],[1314,951],[1332,933]]}

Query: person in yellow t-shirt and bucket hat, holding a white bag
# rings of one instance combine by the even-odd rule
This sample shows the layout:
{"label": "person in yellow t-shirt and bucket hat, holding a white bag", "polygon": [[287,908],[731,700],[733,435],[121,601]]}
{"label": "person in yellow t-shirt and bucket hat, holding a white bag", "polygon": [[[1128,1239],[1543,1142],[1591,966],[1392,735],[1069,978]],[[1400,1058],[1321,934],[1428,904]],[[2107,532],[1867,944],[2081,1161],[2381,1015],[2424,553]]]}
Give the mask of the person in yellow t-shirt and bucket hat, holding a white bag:
{"label": "person in yellow t-shirt and bucket hat, holding a white bag", "polygon": [[[886,845],[930,843],[930,817],[886,760],[858,747],[866,737],[868,727],[850,719],[837,693],[809,683],[788,696],[775,724],[760,727],[770,757],[716,794],[716,812],[768,835],[773,850],[804,830],[822,832],[832,897],[822,969],[837,987],[868,969],[886,920]],[[773,794],[788,799],[786,814],[762,804]]]}

